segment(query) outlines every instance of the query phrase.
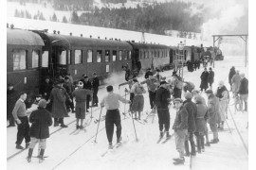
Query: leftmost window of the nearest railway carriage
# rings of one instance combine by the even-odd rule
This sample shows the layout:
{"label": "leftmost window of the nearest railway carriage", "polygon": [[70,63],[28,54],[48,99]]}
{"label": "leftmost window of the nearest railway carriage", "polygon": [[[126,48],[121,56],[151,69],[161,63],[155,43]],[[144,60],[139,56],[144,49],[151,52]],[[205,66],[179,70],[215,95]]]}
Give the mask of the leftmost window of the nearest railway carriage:
{"label": "leftmost window of the nearest railway carriage", "polygon": [[27,51],[13,50],[13,70],[27,69]]}

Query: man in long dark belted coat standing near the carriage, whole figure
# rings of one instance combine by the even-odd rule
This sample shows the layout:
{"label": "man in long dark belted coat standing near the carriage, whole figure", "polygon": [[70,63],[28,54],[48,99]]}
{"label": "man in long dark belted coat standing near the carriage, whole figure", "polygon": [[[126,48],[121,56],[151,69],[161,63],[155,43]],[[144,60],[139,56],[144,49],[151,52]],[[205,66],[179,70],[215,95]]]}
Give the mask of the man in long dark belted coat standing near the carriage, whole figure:
{"label": "man in long dark belted coat standing near the carriage, whole figure", "polygon": [[51,113],[52,117],[54,117],[54,127],[59,126],[59,124],[61,124],[61,127],[67,127],[66,125],[64,125],[64,117],[68,117],[65,106],[65,100],[68,95],[66,95],[63,86],[63,79],[56,80],[55,87],[52,89],[49,100],[47,101],[47,103],[49,103],[51,100],[53,101]]}

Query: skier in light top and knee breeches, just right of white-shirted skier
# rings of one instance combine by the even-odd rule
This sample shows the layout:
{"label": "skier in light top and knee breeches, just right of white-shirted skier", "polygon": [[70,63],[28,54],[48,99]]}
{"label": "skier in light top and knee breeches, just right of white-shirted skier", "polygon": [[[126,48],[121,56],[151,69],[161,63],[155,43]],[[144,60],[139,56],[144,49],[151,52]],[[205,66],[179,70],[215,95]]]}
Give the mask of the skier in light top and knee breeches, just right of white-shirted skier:
{"label": "skier in light top and knee breeches, just right of white-shirted skier", "polygon": [[[137,81],[134,80],[136,83],[133,85],[131,89],[131,93],[135,93],[135,98],[132,105],[132,110],[135,112],[135,119],[140,120],[140,112],[143,111],[144,108],[144,96],[143,93],[146,93],[144,87]],[[137,117],[138,112],[138,117]]]}

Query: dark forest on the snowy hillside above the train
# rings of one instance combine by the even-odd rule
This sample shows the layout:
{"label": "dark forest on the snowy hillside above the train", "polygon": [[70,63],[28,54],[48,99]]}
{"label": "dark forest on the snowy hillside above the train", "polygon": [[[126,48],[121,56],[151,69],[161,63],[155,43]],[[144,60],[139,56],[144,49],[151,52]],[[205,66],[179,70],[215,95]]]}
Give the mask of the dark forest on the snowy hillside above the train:
{"label": "dark forest on the snowy hillside above the train", "polygon": [[[26,2],[52,2],[56,10],[72,11],[70,19],[57,18],[53,13],[52,21],[71,22],[72,24],[86,26],[102,26],[127,30],[142,31],[155,34],[165,34],[166,30],[178,30],[179,37],[192,38],[191,32],[200,32],[203,23],[202,15],[192,15],[189,12],[191,3],[180,1],[144,4],[137,8],[98,8],[93,7],[93,0],[20,0]],[[124,2],[125,0],[101,0],[107,2]],[[203,8],[203,6],[201,7]],[[78,10],[84,10],[78,15]],[[15,12],[16,17],[27,16],[34,19],[45,20],[43,13],[37,17],[29,16],[29,11],[21,14]],[[188,36],[189,35],[189,36]]]}

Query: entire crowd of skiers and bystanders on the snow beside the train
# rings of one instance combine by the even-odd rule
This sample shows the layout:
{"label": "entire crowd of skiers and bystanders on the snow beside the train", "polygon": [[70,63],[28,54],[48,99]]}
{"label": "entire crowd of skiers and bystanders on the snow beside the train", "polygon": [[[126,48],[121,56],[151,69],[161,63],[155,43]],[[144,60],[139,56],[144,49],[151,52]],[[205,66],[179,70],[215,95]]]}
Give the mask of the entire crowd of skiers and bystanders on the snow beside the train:
{"label": "entire crowd of skiers and bystanders on the snow beside the train", "polygon": [[[105,129],[109,143],[109,148],[113,148],[114,126],[117,127],[117,143],[121,143],[121,121],[119,114],[119,101],[130,104],[132,117],[139,121],[141,112],[144,109],[144,94],[146,93],[143,84],[147,85],[149,93],[149,103],[151,113],[158,116],[159,138],[171,138],[170,134],[170,107],[174,104],[176,116],[174,119],[174,137],[176,150],[179,153],[178,158],[174,158],[174,164],[184,164],[185,156],[195,156],[197,153],[202,153],[205,150],[205,145],[217,144],[218,130],[224,129],[224,123],[228,118],[227,110],[229,104],[229,90],[224,85],[224,81],[219,81],[216,91],[212,90],[214,82],[214,72],[212,69],[204,71],[201,78],[200,89],[196,90],[193,82],[185,81],[184,78],[177,75],[174,71],[172,78],[166,81],[165,76],[160,75],[158,69],[155,70],[155,75],[152,69],[148,69],[145,74],[145,80],[139,82],[137,76],[119,84],[120,86],[129,85],[129,90],[125,88],[126,93],[130,93],[130,99],[123,98],[118,93],[114,93],[113,86],[106,87],[107,95],[101,99],[100,106],[105,107]],[[64,125],[64,117],[68,116],[68,111],[76,113],[77,128],[83,128],[83,120],[85,112],[88,112],[89,102],[92,100],[91,107],[98,107],[98,96],[100,80],[96,73],[93,74],[92,82],[88,80],[88,76],[83,75],[82,79],[77,84],[75,89],[74,81],[70,75],[60,77],[52,84],[49,77],[40,88],[42,99],[38,103],[38,110],[32,111],[29,118],[26,113],[24,101],[27,98],[27,93],[20,93],[19,99],[15,99],[17,95],[14,92],[13,85],[9,84],[8,88],[8,119],[9,127],[18,125],[16,148],[24,149],[21,145],[25,138],[26,147],[28,147],[27,161],[31,161],[31,155],[36,143],[40,144],[40,158],[44,159],[46,149],[46,138],[49,137],[48,127],[53,126],[67,127]],[[233,96],[239,96],[240,110],[247,111],[247,96],[248,96],[248,80],[245,74],[239,74],[234,67],[229,73],[230,91]],[[209,88],[210,87],[210,88]],[[183,97],[182,97],[183,91]],[[201,95],[205,92],[208,97],[208,102]],[[184,100],[182,98],[185,98]],[[73,102],[75,99],[75,105]],[[15,103],[16,102],[16,103]],[[12,109],[10,108],[12,107]],[[79,122],[81,121],[81,125]],[[29,127],[28,122],[31,123]],[[209,140],[208,124],[213,134],[212,140]],[[43,131],[43,133],[42,133]],[[196,144],[194,142],[194,136]],[[197,149],[196,149],[197,148]]]}

